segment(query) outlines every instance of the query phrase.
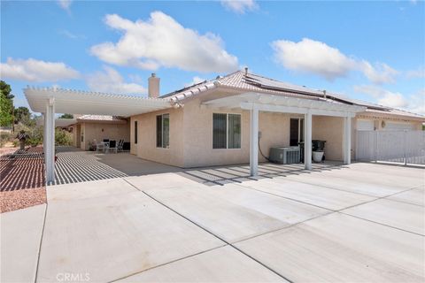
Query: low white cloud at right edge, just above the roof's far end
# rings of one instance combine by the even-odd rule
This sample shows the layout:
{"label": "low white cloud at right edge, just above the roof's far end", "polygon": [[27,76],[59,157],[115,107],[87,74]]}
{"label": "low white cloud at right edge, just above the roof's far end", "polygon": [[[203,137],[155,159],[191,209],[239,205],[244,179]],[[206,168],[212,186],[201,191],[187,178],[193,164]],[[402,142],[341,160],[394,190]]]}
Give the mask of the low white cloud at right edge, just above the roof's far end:
{"label": "low white cloud at right edge, just above the roof's far end", "polygon": [[384,106],[425,114],[425,88],[411,96],[368,85],[355,86],[354,91],[372,96],[376,103]]}

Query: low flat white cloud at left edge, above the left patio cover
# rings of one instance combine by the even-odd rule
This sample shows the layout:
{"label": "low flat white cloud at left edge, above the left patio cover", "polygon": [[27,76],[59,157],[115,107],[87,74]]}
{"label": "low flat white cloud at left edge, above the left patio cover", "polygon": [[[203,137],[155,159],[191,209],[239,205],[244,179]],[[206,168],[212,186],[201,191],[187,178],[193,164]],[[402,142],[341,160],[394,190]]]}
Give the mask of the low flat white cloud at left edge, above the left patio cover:
{"label": "low flat white cloud at left edge, above the left patio cover", "polygon": [[6,63],[0,63],[0,75],[11,80],[27,81],[58,81],[77,79],[80,73],[62,62],[45,62],[29,58],[7,58]]}

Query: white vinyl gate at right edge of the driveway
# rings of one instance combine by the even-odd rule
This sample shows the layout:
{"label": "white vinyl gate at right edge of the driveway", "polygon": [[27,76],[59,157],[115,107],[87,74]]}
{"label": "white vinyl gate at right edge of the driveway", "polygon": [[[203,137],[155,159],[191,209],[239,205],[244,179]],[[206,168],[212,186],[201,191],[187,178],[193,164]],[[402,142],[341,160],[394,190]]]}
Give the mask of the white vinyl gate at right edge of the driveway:
{"label": "white vinyl gate at right edge of the driveway", "polygon": [[425,164],[425,131],[357,131],[356,159]]}

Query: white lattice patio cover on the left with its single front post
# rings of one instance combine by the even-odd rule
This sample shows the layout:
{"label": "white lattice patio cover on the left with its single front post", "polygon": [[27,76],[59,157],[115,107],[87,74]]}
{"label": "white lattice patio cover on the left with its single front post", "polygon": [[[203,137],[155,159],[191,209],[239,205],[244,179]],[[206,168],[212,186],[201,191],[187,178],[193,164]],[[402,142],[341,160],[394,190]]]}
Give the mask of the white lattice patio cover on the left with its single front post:
{"label": "white lattice patio cover on the left with its single front post", "polygon": [[55,180],[55,113],[129,117],[173,107],[169,99],[122,96],[62,88],[24,89],[32,111],[43,113],[46,180]]}

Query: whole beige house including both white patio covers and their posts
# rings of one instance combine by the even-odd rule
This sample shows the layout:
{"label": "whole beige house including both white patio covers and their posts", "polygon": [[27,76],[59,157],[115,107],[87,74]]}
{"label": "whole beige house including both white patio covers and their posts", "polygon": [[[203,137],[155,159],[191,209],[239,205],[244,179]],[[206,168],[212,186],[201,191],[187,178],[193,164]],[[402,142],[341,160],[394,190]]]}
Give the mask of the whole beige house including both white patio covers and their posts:
{"label": "whole beige house including both white patio covers and their posts", "polygon": [[[159,96],[159,83],[152,73],[149,97],[25,88],[32,111],[42,112],[45,121],[47,180],[54,180],[55,112],[90,114],[74,131],[75,145],[82,141],[82,149],[103,139],[106,125],[120,125],[123,130],[116,130],[116,138],[126,136],[124,128],[129,127],[130,152],[137,157],[185,168],[249,162],[251,175],[272,147],[305,142],[309,170],[312,140],[323,140],[328,160],[350,164],[358,131],[420,130],[425,122],[421,115],[268,79],[247,69],[164,96]],[[120,116],[129,124],[118,119],[95,122],[93,115]]]}

